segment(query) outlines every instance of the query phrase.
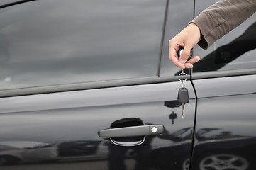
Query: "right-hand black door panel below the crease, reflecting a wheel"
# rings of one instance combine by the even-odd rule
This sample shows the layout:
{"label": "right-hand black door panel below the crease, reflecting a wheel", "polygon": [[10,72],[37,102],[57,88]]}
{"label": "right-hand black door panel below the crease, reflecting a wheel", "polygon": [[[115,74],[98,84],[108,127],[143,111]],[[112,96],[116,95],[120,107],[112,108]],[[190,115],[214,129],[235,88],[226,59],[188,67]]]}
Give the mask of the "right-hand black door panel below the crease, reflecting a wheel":
{"label": "right-hand black door panel below the crease, reflecting a wheel", "polygon": [[[255,98],[255,93],[199,98],[192,169],[255,169]],[[213,162],[216,155],[227,154],[231,156],[220,164]]]}

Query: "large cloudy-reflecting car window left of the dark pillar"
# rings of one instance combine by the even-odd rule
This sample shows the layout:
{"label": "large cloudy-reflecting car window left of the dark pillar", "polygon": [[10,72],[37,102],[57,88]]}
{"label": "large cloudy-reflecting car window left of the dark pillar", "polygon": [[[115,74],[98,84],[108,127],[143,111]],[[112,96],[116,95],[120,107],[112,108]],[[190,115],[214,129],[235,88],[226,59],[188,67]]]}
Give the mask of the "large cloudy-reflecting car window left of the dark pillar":
{"label": "large cloudy-reflecting car window left of the dark pillar", "polygon": [[45,0],[0,9],[0,87],[157,76],[165,0]]}

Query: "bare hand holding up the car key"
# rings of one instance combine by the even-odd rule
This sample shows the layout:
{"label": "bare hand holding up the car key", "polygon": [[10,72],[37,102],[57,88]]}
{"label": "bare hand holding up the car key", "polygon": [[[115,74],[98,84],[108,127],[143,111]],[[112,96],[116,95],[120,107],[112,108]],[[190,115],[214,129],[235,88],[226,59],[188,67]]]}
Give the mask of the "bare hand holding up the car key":
{"label": "bare hand holding up the car key", "polygon": [[[169,60],[171,60],[177,67],[182,69],[192,68],[195,62],[200,60],[199,56],[189,58],[191,49],[201,40],[200,29],[196,24],[190,23],[189,26],[184,28],[172,40],[169,40]],[[184,47],[182,55],[178,58],[177,52],[179,47]]]}

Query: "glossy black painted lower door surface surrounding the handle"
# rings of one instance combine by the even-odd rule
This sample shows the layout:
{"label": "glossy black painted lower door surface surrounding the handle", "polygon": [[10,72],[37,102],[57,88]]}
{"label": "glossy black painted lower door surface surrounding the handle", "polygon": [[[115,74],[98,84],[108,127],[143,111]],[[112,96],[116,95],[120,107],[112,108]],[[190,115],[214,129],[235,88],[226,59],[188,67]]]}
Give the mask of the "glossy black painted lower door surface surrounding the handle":
{"label": "glossy black painted lower door surface surrounding the handle", "polygon": [[[48,169],[55,166],[62,169],[72,164],[74,169],[84,169],[90,164],[93,169],[107,169],[108,166],[109,169],[157,168],[159,164],[154,159],[154,150],[184,141],[190,147],[182,150],[183,155],[189,157],[192,131],[188,131],[190,135],[184,139],[175,140],[174,137],[181,135],[176,131],[193,127],[195,96],[187,82],[190,101],[186,104],[186,117],[181,118],[181,106],[176,101],[179,86],[179,82],[172,82],[1,98],[5,107],[1,111],[0,126],[7,132],[0,134],[1,142],[18,145],[15,149],[2,151],[1,155],[11,154],[21,159],[18,165],[3,167]],[[8,106],[10,101],[12,104]],[[173,111],[177,119],[172,123],[169,115]],[[97,135],[99,130],[110,128],[113,122],[122,118],[140,118],[144,124],[162,124],[165,133],[146,137],[137,147],[116,146]],[[173,152],[172,157],[176,155]],[[152,164],[149,164],[151,159]],[[103,166],[100,168],[99,164]],[[177,166],[177,162],[172,164]]]}

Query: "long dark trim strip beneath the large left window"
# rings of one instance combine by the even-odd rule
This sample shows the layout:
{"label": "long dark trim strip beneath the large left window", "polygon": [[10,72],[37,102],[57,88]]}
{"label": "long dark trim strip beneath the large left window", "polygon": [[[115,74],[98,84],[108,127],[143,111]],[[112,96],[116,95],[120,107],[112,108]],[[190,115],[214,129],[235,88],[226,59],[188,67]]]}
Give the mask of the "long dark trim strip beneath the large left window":
{"label": "long dark trim strip beneath the large left window", "polygon": [[[188,74],[188,81],[190,79]],[[0,98],[12,97],[12,96],[26,96],[33,94],[49,94],[59,93],[65,91],[78,91],[78,90],[89,90],[89,89],[103,89],[119,86],[138,86],[144,84],[160,84],[167,82],[179,81],[178,77],[142,77],[133,79],[118,79],[108,81],[92,81],[86,83],[74,83],[74,84],[60,84],[60,85],[49,85],[49,86],[34,86],[19,89],[3,89],[0,90]]]}

